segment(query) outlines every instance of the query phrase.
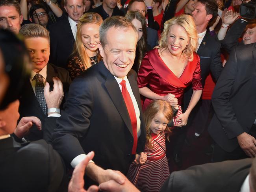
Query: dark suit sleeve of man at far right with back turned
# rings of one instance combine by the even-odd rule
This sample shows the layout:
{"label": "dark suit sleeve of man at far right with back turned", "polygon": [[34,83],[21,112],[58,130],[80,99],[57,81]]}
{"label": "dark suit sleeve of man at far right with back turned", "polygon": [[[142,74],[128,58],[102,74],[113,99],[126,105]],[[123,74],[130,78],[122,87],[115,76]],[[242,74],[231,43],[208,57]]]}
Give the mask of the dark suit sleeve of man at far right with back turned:
{"label": "dark suit sleeve of man at far right with back turned", "polygon": [[211,99],[215,114],[230,139],[244,132],[244,129],[237,121],[232,103],[230,102],[230,94],[236,79],[236,74],[237,55],[236,50],[233,50],[216,83]]}

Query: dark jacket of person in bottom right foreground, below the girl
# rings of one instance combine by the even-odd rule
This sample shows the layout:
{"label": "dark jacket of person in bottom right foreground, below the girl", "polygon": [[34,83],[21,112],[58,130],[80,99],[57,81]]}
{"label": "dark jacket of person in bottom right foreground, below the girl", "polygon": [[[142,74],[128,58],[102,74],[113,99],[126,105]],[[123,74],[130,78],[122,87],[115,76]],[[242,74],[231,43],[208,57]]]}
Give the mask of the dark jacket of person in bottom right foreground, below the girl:
{"label": "dark jacket of person in bottom right foreground, below the girl", "polygon": [[173,172],[160,192],[239,192],[252,159],[192,166]]}

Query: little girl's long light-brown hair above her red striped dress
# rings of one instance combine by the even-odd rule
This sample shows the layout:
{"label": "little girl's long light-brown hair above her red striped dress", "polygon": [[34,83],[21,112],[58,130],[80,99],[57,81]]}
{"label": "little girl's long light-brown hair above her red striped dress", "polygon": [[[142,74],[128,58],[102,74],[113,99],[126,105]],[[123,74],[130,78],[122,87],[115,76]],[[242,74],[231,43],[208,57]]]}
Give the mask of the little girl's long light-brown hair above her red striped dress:
{"label": "little girl's long light-brown hair above her red striped dress", "polygon": [[[167,118],[168,121],[170,121],[173,118],[173,109],[171,107],[171,105],[169,104],[169,102],[165,101],[165,100],[154,100],[152,101],[145,113],[144,113],[144,119],[145,119],[145,124],[146,124],[146,146],[148,148],[153,148],[154,146],[152,146],[152,136],[151,136],[151,123],[152,120],[154,119],[154,117],[156,116],[157,113],[163,113],[163,115],[165,116],[165,118]],[[166,127],[165,129],[165,133],[167,133],[168,137],[167,139],[169,140],[169,135],[171,133],[171,129],[170,127]]]}

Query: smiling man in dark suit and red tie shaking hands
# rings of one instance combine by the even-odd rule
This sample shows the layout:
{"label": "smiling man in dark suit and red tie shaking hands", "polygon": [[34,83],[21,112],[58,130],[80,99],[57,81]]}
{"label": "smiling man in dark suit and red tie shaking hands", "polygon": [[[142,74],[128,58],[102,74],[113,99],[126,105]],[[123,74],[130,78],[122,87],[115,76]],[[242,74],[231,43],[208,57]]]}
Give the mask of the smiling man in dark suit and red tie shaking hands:
{"label": "smiling man in dark suit and red tie shaking hands", "polygon": [[95,151],[95,164],[89,163],[86,172],[98,183],[108,178],[108,171],[96,164],[126,174],[145,147],[137,75],[131,70],[136,43],[137,31],[126,18],[104,20],[99,44],[103,61],[71,83],[52,135],[54,148],[73,167]]}

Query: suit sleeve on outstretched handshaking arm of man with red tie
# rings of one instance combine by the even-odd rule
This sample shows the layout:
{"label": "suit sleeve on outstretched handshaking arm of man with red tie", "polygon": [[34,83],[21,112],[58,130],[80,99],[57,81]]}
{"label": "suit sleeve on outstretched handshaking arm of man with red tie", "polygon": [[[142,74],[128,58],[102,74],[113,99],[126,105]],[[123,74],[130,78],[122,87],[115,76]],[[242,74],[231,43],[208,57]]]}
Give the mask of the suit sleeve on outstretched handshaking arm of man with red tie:
{"label": "suit sleeve on outstretched handshaking arm of man with red tie", "polygon": [[79,139],[87,133],[90,125],[93,82],[84,79],[78,77],[71,83],[64,111],[61,111],[61,117],[58,118],[57,127],[52,134],[54,149],[68,165],[76,156],[84,153]]}

